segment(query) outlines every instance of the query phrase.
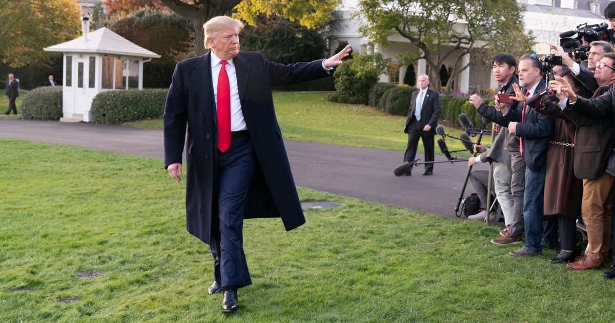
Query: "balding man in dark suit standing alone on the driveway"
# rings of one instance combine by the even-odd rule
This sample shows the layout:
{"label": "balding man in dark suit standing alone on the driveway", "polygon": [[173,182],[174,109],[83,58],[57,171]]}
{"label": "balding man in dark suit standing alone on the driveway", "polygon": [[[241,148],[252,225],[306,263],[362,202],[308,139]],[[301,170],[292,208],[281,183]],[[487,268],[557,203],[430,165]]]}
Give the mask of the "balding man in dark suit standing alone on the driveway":
{"label": "balding man in dark suit standing alone on the driveway", "polygon": [[[419,138],[423,140],[425,161],[434,161],[435,127],[438,126],[438,116],[440,116],[440,95],[427,88],[429,76],[419,75],[417,85],[419,89],[412,94],[406,127],[403,129],[403,132],[408,134],[408,146],[403,161],[410,164],[415,160]],[[432,173],[434,173],[434,164],[425,164],[423,175],[432,175]],[[412,168],[405,175],[412,175]]]}

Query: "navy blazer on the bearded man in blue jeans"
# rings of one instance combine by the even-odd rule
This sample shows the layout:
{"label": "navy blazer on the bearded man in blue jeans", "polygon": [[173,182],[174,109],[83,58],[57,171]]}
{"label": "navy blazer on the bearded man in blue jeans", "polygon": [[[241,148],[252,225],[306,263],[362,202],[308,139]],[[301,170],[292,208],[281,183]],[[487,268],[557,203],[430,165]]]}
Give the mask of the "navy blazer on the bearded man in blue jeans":
{"label": "navy blazer on the bearded man in blue jeans", "polygon": [[[536,87],[536,93],[544,89],[545,82],[541,79]],[[523,143],[523,161],[532,172],[538,172],[547,162],[547,148],[549,148],[549,138],[553,135],[555,119],[527,107],[525,119],[521,122],[522,110],[523,105],[518,111],[510,110],[506,114],[506,119],[519,122],[516,132]]]}

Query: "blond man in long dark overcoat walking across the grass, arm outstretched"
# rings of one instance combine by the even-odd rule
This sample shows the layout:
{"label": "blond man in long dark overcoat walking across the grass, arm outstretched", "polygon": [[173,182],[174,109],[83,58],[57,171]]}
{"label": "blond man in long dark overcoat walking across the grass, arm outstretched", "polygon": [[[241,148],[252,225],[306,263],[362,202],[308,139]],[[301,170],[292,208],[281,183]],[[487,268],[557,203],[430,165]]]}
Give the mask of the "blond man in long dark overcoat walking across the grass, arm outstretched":
{"label": "blond man in long dark overcoat walking across the grass, arm outstretched", "polygon": [[[165,169],[179,181],[186,144],[186,226],[210,245],[222,311],[239,308],[237,289],[252,284],[243,249],[244,218],[305,223],[277,124],[271,88],[330,75],[351,51],[282,65],[240,52],[243,23],[215,17],[204,25],[210,52],[178,63],[164,111]],[[186,140],[186,124],[188,138]]]}

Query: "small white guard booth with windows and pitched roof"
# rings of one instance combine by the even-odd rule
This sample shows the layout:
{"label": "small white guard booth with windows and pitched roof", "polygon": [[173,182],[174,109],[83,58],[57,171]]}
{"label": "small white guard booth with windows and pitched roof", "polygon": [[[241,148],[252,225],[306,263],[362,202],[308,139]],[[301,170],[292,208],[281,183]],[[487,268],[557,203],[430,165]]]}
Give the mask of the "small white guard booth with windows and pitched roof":
{"label": "small white guard booth with windows and pitched roof", "polygon": [[90,121],[90,106],[100,92],[143,89],[143,63],[160,55],[119,36],[108,28],[89,33],[84,17],[82,36],[45,47],[64,55],[60,121]]}

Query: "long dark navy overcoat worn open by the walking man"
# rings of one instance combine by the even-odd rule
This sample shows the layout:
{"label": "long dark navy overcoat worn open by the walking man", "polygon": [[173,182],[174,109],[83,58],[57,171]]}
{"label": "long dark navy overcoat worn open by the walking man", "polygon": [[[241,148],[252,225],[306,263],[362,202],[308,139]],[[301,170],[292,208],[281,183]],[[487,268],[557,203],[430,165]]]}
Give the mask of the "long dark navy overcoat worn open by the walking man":
{"label": "long dark navy overcoat worn open by the walking man", "polygon": [[[329,74],[322,60],[282,65],[260,52],[233,58],[237,87],[252,145],[258,159],[245,202],[245,218],[282,217],[287,230],[305,223],[295,181],[277,124],[271,88],[311,81]],[[210,244],[212,214],[217,217],[216,114],[210,53],[175,67],[164,110],[165,168],[182,162],[186,141],[186,226]],[[186,140],[186,124],[188,138]]]}

